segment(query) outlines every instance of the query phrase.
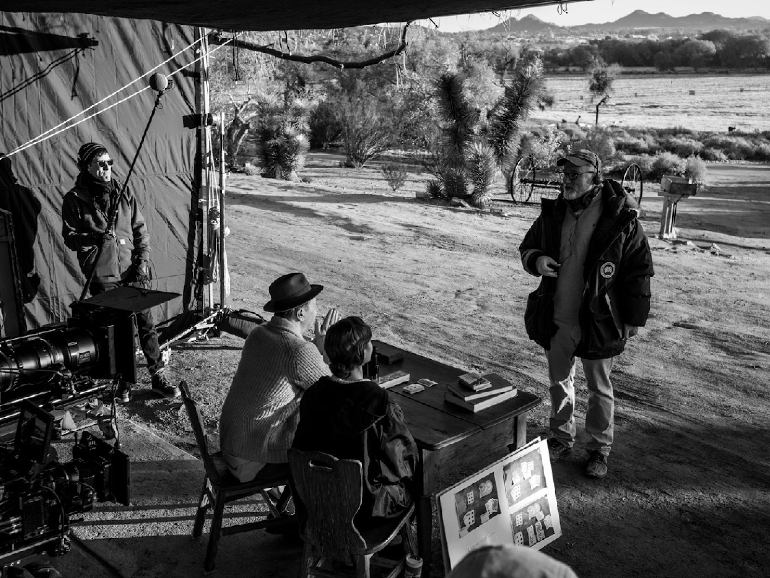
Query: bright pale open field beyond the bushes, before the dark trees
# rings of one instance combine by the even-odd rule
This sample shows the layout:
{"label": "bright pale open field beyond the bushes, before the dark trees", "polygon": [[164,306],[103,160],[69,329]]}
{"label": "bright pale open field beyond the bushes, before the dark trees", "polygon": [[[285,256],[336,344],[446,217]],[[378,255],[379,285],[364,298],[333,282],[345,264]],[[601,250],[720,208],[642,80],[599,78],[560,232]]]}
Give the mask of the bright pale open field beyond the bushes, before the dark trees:
{"label": "bright pale open field beyond the bushes, before the dark trees", "polygon": [[[547,76],[547,86],[554,95],[554,106],[536,111],[533,118],[574,123],[581,116],[581,123],[594,124],[596,106],[588,94],[587,76]],[[728,126],[735,126],[754,132],[770,130],[768,110],[768,74],[619,76],[611,99],[601,107],[599,123],[650,128],[686,126],[724,133]]]}

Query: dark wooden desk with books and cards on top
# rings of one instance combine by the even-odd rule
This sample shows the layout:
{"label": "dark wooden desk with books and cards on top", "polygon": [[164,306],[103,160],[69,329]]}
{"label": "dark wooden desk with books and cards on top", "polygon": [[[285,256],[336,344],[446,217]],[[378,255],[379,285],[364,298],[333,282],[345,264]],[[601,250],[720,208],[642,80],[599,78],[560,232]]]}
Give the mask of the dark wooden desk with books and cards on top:
{"label": "dark wooden desk with books and cards on top", "polygon": [[[381,344],[373,340],[372,344]],[[391,346],[393,347],[393,346]],[[390,388],[390,395],[403,409],[403,415],[417,446],[420,448],[421,471],[417,476],[417,539],[423,558],[423,578],[430,576],[431,552],[431,504],[436,491],[436,479],[441,473],[451,472],[477,461],[491,449],[507,447],[509,451],[527,442],[527,412],[540,405],[542,400],[525,389],[534,389],[537,382],[527,375],[517,374],[511,382],[519,388],[515,398],[494,405],[482,412],[467,412],[444,402],[447,383],[457,382],[466,373],[403,351],[403,360],[392,364],[380,364],[380,375],[391,371],[407,371],[408,383],[420,378],[437,381],[425,391],[409,395],[403,393],[404,385]]]}

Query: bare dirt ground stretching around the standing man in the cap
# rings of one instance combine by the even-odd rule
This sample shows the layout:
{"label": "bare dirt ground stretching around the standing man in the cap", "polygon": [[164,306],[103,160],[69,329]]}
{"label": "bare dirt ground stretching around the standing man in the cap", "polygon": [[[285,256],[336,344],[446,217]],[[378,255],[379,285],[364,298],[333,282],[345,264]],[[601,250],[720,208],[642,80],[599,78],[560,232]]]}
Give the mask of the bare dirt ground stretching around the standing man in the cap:
{"label": "bare dirt ground stretching around the standing man in the cap", "polygon": [[[523,321],[537,279],[517,250],[537,207],[507,202],[502,187],[492,211],[420,200],[417,166],[393,192],[376,163],[351,170],[339,160],[310,154],[300,173],[310,183],[229,177],[228,306],[262,311],[270,281],[304,271],[326,286],[322,313],[360,315],[377,338],[460,368],[530,375],[544,403],[527,435],[547,434],[545,358]],[[582,450],[554,465],[563,535],[544,552],[578,576],[768,576],[770,166],[708,170],[711,186],[680,203],[675,241],[657,238],[661,197],[644,183],[652,312],[616,359],[610,472],[585,477]],[[171,375],[190,382],[215,442],[242,344],[223,335],[173,351]],[[576,448],[586,441],[578,373]],[[140,392],[121,412],[197,452],[179,402]],[[477,468],[438,485],[502,455],[490,448]],[[443,570],[438,556],[434,576]]]}

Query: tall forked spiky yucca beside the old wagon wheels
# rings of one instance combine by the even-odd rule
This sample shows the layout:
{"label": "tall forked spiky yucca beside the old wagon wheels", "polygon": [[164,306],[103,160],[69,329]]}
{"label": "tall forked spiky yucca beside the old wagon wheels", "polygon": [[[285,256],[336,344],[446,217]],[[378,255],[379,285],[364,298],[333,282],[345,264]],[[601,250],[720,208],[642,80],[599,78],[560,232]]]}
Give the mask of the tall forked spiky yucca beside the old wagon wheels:
{"label": "tall forked spiky yucca beside the old wagon wheels", "polygon": [[[534,58],[519,67],[487,118],[474,108],[463,76],[444,74],[437,81],[444,143],[437,166],[437,183],[444,197],[470,197],[474,207],[486,207],[491,187],[511,170],[521,144],[521,123],[537,104],[543,89],[543,66]],[[432,192],[435,193],[436,185]]]}

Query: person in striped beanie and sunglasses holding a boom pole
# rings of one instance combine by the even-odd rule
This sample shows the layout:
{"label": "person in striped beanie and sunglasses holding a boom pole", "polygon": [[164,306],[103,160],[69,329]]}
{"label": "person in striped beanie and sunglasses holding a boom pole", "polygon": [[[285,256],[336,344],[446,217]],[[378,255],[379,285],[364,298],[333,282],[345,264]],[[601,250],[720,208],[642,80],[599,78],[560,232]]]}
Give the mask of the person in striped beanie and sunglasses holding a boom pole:
{"label": "person in striped beanie and sunglasses holding a boom pole", "polygon": [[[89,291],[97,295],[121,285],[142,286],[149,282],[149,234],[139,206],[129,190],[121,193],[121,185],[112,178],[112,158],[105,146],[86,143],[78,151],[80,173],[75,187],[62,202],[62,237],[67,247],[78,256],[80,270],[87,278],[95,267]],[[117,210],[115,227],[107,232],[109,213]],[[102,247],[99,261],[96,255]],[[152,391],[166,398],[178,397],[179,388],[170,385],[163,373],[158,334],[148,310],[136,314],[139,341],[147,359]],[[131,388],[122,383],[117,398],[131,399]]]}

